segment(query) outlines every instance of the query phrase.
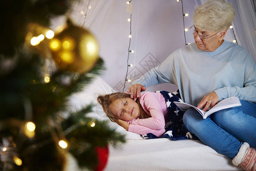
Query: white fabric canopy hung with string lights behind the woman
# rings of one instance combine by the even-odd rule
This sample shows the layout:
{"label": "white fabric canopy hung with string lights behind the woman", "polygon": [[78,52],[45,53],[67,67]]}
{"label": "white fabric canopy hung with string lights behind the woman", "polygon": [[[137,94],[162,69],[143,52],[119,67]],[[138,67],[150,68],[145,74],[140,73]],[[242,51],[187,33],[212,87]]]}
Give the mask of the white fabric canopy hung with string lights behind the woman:
{"label": "white fabric canopy hung with string lights behind the woman", "polygon": [[[245,47],[256,62],[255,0],[227,1],[233,4],[236,14],[234,28],[228,30],[225,39],[233,41],[236,38],[238,44]],[[126,12],[126,2],[80,0],[74,1],[70,11],[74,23],[90,30],[99,41],[100,56],[106,67],[101,78],[116,91],[123,91],[124,88],[130,31],[132,38],[129,50],[135,52],[129,54],[128,64],[133,64],[133,67],[128,67],[127,79],[134,80],[157,66],[174,50],[185,46],[185,42],[194,41],[190,31],[184,34],[184,28],[193,25],[193,11],[205,0],[133,0],[131,30],[127,21],[131,16]],[[185,13],[189,16],[184,17],[183,21]],[[65,17],[54,19],[52,29],[64,21]],[[131,83],[127,82],[124,91],[129,86]],[[166,84],[156,89],[174,91],[176,87]]]}

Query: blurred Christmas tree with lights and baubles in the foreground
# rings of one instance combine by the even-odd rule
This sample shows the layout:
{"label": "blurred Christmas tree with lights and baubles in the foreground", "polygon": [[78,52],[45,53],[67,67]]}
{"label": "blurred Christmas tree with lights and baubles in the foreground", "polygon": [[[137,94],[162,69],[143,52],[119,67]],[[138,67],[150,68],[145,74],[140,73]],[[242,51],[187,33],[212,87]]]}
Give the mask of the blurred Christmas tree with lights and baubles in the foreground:
{"label": "blurred Christmas tree with lights and baubles in the foreground", "polygon": [[94,104],[71,111],[68,97],[104,69],[90,31],[50,20],[64,15],[64,0],[0,3],[0,170],[63,170],[67,154],[80,168],[100,170],[100,154],[124,136],[87,117]]}

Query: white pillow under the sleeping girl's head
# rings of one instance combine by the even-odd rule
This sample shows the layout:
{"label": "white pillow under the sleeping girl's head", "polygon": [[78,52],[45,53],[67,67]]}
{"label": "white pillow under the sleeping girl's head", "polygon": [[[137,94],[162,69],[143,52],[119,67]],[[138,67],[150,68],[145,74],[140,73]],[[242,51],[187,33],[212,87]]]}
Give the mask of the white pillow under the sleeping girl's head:
{"label": "white pillow under the sleeping girl's head", "polygon": [[87,114],[88,117],[92,117],[97,120],[108,121],[109,127],[115,128],[117,132],[120,132],[123,135],[125,135],[125,139],[129,139],[129,140],[143,139],[137,133],[128,132],[123,127],[110,121],[108,117],[105,115],[105,113],[103,112],[101,105],[97,103],[97,96],[105,95],[113,92],[116,92],[116,91],[112,87],[110,87],[99,76],[95,76],[92,83],[84,86],[82,91],[71,95],[68,103],[72,111],[77,111],[82,107],[85,107],[86,105],[91,103],[95,104],[94,108],[92,108],[93,112]]}

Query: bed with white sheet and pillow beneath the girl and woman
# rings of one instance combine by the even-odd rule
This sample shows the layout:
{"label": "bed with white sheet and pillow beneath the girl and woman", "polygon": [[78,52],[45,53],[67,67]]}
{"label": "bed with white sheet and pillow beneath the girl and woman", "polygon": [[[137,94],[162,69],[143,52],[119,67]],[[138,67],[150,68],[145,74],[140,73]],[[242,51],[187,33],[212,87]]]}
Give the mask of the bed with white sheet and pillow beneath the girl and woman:
{"label": "bed with white sheet and pillow beneath the girl and woman", "polygon": [[[94,112],[88,116],[109,120],[97,104],[99,94],[115,92],[103,79],[96,77],[83,91],[71,96],[70,103],[75,109],[84,104],[94,103]],[[199,140],[143,139],[136,133],[125,131],[109,121],[109,127],[125,135],[127,143],[119,148],[109,146],[105,171],[113,170],[241,170],[233,166],[231,159],[217,153]],[[66,170],[79,170],[70,157]]]}

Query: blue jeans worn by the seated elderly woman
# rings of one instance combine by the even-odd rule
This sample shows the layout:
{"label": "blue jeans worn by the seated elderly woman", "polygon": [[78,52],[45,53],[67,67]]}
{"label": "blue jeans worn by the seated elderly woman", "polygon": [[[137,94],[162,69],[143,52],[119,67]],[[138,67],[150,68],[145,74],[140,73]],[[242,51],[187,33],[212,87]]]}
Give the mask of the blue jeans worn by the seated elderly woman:
{"label": "blue jeans worn by the seated elderly woman", "polygon": [[184,113],[185,127],[218,153],[234,158],[243,142],[256,147],[256,103],[223,109],[207,119],[195,110]]}

